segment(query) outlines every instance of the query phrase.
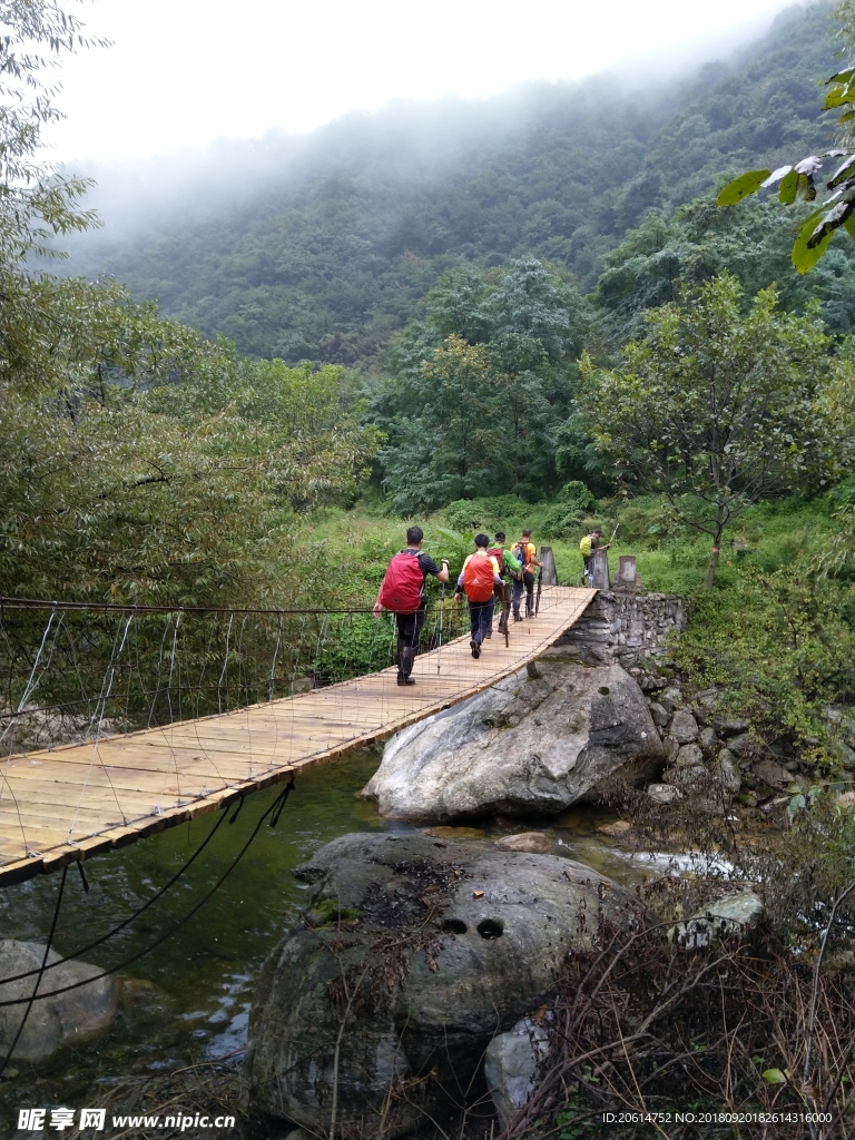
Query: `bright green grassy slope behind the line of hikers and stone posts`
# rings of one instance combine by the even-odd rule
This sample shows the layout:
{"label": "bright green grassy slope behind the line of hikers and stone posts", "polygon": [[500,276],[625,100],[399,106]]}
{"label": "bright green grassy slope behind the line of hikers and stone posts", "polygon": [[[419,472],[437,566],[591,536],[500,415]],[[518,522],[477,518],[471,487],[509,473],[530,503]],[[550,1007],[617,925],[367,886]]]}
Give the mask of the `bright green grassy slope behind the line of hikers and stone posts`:
{"label": "bright green grassy slope behind the line of hikers and stone posts", "polygon": [[[316,605],[373,602],[390,557],[405,545],[407,527],[413,523],[424,530],[425,549],[437,561],[443,556],[450,560],[453,581],[472,549],[477,530],[492,537],[502,529],[512,543],[523,527],[531,527],[538,546],[552,546],[559,579],[576,585],[581,575],[583,535],[600,526],[608,538],[619,523],[609,557],[612,572],[621,554],[634,554],[645,589],[689,596],[701,591],[710,547],[706,535],[669,523],[656,499],[612,499],[597,506],[579,518],[572,532],[562,527],[560,535],[548,529],[549,515],[555,514],[552,504],[528,505],[514,496],[453,504],[447,511],[418,519],[389,518],[370,502],[349,511],[325,508],[303,516],[292,534],[293,570],[284,588],[294,602]],[[781,499],[747,511],[725,538],[715,591],[732,589],[750,568],[771,572],[807,564],[834,534],[834,506],[833,498],[824,496]],[[734,537],[748,547],[741,559],[732,545]],[[435,584],[431,588],[435,589]]]}

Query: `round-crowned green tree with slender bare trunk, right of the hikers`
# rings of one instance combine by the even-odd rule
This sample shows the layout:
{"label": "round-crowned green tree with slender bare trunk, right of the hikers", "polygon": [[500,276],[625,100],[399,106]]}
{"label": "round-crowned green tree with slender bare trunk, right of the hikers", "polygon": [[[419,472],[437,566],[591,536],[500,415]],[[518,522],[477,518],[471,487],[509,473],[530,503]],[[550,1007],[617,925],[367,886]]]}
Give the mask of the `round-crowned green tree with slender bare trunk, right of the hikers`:
{"label": "round-crowned green tree with slender bare trunk, right of the hikers", "polygon": [[584,357],[583,427],[619,478],[709,535],[708,586],[722,535],[748,506],[831,466],[834,426],[816,400],[826,350],[815,314],[777,312],[772,290],[743,314],[741,286],[722,276],[650,314],[621,368]]}

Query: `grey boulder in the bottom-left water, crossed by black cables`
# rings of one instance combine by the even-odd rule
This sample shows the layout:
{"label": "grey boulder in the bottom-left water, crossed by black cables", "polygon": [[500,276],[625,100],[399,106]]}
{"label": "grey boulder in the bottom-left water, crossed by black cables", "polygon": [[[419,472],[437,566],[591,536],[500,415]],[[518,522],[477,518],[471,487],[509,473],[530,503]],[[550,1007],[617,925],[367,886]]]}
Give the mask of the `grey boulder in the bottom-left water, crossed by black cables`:
{"label": "grey boulder in the bottom-left water, crossed by black cables", "polygon": [[[0,1002],[21,1001],[19,1005],[0,1004],[0,1051],[8,1052],[33,993],[38,971],[44,961],[44,946],[33,942],[0,942],[0,977],[16,982],[0,983]],[[22,1061],[42,1061],[66,1044],[76,1044],[108,1028],[115,1017],[119,992],[115,979],[98,978],[101,971],[87,962],[68,961],[54,966],[59,954],[50,951],[39,991],[48,993],[75,986],[54,997],[38,997],[33,1002],[24,1029],[15,1045],[14,1057]],[[36,971],[36,972],[31,972]],[[89,980],[95,978],[96,980]],[[80,983],[88,983],[80,985]]]}

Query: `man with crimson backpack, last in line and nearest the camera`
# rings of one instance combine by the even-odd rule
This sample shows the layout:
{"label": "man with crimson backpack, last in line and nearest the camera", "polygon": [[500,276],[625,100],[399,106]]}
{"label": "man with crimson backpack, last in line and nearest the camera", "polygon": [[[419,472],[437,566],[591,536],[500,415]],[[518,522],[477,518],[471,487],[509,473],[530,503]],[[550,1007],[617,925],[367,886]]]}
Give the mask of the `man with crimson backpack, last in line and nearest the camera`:
{"label": "man with crimson backpack, last in line and nearest the camera", "polygon": [[410,674],[427,609],[427,596],[424,591],[427,575],[432,573],[437,581],[443,585],[448,581],[448,559],[440,559],[442,563],[440,569],[430,554],[422,552],[423,542],[422,528],[409,527],[407,546],[389,563],[377,601],[374,603],[375,618],[378,618],[383,610],[390,610],[394,614],[398,626],[399,685],[415,685]]}

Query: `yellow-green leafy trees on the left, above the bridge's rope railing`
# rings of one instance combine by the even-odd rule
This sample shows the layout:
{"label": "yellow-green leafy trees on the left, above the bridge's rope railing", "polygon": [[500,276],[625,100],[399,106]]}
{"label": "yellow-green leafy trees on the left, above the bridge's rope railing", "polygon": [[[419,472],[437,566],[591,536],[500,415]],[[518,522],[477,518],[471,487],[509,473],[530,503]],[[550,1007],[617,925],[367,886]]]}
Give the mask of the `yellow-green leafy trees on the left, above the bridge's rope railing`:
{"label": "yellow-green leafy trees on the left, above the bridge's rope railing", "polygon": [[[70,284],[75,298],[98,293],[58,287],[52,317],[65,328]],[[95,301],[109,310],[109,294]],[[127,299],[111,312],[133,327]],[[291,512],[350,492],[376,446],[358,408],[342,407],[340,369],[242,360],[164,323],[148,348],[171,372],[168,349],[180,347],[186,378],[144,386],[153,368],[140,341],[120,355],[97,323],[81,324],[89,343],[75,339],[72,359],[51,347],[38,396],[0,388],[0,592],[184,604],[280,595]],[[155,331],[148,310],[140,325]],[[105,356],[125,383],[108,383]],[[31,345],[18,373],[39,375],[42,359]]]}

